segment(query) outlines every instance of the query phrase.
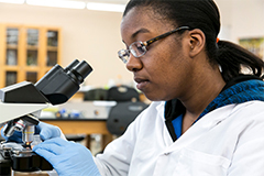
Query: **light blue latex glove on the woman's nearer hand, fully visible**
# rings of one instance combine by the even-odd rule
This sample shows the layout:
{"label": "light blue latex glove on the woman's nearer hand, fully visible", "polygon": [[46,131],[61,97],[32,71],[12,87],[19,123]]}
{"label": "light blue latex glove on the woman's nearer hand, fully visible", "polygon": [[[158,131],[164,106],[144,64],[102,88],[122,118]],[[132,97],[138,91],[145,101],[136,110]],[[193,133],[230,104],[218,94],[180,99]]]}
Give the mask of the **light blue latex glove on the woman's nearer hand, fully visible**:
{"label": "light blue latex glove on the woman's nearer hand, fully visible", "polygon": [[48,161],[59,176],[100,176],[90,151],[61,138],[46,140],[33,151]]}

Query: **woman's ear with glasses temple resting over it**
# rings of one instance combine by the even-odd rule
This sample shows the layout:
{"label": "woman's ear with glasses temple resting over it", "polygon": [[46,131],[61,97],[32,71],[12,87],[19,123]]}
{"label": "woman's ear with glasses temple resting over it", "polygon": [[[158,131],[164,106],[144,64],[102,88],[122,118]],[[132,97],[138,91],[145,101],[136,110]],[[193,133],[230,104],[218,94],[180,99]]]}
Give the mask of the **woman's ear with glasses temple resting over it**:
{"label": "woman's ear with glasses temple resting over it", "polygon": [[188,36],[189,56],[193,58],[205,51],[206,35],[201,30],[195,29],[189,31]]}

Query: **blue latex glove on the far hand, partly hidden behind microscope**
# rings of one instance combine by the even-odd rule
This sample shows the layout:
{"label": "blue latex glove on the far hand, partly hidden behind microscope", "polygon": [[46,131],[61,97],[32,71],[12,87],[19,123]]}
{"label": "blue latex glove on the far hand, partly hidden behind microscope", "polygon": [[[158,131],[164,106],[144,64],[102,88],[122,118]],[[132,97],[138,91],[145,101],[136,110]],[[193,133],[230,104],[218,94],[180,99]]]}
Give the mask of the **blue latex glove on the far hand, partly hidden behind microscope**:
{"label": "blue latex glove on the far hand, partly hidden behind microscope", "polygon": [[[6,141],[22,143],[22,132],[14,131],[12,136],[7,138],[6,135],[3,135],[3,129],[4,128],[1,129],[1,135],[2,135],[2,138],[6,139]],[[55,125],[47,124],[47,123],[44,123],[44,122],[40,122],[35,127],[35,134],[40,134],[41,139],[43,141],[45,141],[45,140],[48,140],[48,139],[61,136],[61,130]]]}

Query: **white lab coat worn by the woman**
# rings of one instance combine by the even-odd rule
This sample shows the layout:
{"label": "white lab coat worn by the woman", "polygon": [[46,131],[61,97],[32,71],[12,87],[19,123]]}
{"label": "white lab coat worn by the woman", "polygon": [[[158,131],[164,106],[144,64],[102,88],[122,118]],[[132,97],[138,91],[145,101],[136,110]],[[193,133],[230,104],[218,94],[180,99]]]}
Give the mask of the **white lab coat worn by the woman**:
{"label": "white lab coat worn by the woman", "polygon": [[213,110],[176,142],[153,102],[95,162],[102,176],[264,176],[264,102]]}

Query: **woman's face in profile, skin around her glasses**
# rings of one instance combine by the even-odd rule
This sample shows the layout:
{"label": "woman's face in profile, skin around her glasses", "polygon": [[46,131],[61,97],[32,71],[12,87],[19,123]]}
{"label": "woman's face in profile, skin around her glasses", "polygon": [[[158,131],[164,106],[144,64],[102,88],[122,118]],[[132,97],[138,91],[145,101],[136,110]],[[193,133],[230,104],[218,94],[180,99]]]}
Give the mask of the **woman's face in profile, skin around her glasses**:
{"label": "woman's face in profile, skin around her glasses", "polygon": [[[121,35],[127,48],[136,41],[145,42],[174,30],[150,9],[133,8],[121,23]],[[191,85],[191,59],[188,57],[184,34],[172,34],[147,46],[145,55],[136,58],[132,54],[127,68],[150,100],[170,100],[188,96]],[[180,38],[182,37],[182,38]]]}

